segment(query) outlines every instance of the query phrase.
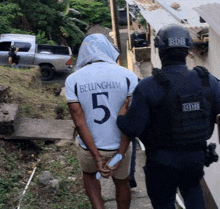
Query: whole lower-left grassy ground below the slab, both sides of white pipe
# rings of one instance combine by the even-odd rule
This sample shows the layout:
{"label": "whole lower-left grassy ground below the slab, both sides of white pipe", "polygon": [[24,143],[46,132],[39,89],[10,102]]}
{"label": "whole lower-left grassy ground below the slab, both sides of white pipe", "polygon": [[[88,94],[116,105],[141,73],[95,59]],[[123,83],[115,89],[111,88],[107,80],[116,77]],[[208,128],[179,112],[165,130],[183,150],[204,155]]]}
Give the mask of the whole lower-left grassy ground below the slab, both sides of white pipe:
{"label": "whole lower-left grassy ground below the slab, both sides of white pipe", "polygon": [[[21,201],[22,209],[91,209],[74,145],[57,147],[37,141],[8,142],[0,140],[0,208],[17,208],[34,166],[34,177]],[[50,171],[59,180],[59,189],[42,187],[38,177]],[[74,207],[73,207],[74,206]]]}

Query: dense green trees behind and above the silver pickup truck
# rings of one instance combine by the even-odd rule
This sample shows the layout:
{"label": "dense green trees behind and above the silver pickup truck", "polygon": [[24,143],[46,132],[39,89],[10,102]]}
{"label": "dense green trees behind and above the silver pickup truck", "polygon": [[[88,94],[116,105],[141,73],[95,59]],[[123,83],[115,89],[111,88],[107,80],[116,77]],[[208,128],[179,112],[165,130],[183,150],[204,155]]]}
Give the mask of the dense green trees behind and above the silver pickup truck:
{"label": "dense green trees behind and above the silver pickup truck", "polygon": [[0,34],[32,34],[39,44],[71,48],[80,45],[90,25],[111,26],[108,6],[92,0],[0,1],[0,21]]}

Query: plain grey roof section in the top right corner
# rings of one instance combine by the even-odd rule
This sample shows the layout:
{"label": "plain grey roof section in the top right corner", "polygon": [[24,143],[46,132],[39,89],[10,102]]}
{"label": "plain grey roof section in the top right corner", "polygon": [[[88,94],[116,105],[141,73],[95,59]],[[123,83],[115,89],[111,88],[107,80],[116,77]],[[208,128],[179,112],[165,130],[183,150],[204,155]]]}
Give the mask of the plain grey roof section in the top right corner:
{"label": "plain grey roof section in the top right corner", "polygon": [[219,3],[201,5],[194,10],[220,35],[220,1]]}

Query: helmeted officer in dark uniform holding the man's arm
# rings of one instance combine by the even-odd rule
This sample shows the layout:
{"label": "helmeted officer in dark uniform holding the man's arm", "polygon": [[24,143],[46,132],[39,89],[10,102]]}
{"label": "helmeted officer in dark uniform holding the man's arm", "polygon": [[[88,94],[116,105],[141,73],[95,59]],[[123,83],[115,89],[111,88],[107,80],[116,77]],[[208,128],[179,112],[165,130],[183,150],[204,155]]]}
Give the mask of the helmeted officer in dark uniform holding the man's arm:
{"label": "helmeted officer in dark uniform holding the man's arm", "polygon": [[220,113],[220,84],[203,67],[189,70],[189,32],[179,25],[160,29],[155,46],[162,69],[139,82],[119,129],[146,148],[147,192],[156,209],[175,209],[179,188],[186,208],[204,209],[200,185],[207,140]]}

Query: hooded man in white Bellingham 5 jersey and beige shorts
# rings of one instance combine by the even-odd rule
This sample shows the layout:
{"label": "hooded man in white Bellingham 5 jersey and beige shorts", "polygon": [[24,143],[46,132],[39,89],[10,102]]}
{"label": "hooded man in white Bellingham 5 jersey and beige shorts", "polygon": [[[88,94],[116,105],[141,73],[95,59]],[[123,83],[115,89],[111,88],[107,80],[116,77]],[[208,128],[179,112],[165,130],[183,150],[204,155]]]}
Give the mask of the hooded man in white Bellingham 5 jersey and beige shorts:
{"label": "hooded man in white Bellingham 5 jersey and beige shorts", "polygon": [[[68,106],[79,134],[84,187],[93,208],[97,209],[104,208],[97,172],[105,178],[112,176],[118,208],[128,209],[131,199],[130,138],[121,134],[116,119],[120,109],[120,113],[126,112],[123,104],[130,100],[138,78],[117,65],[118,56],[119,52],[104,35],[91,34],[80,47],[76,72],[65,82]],[[112,169],[106,162],[114,154],[123,159]]]}

